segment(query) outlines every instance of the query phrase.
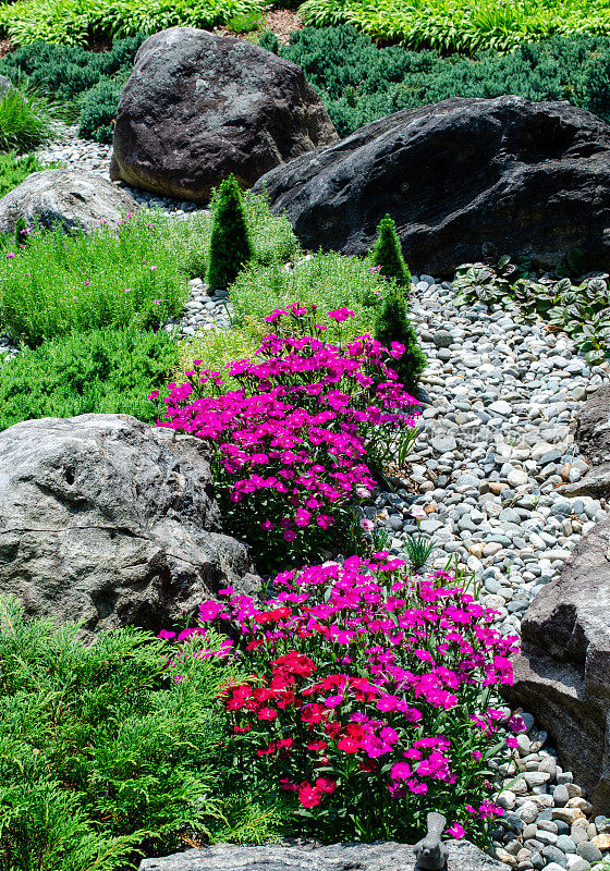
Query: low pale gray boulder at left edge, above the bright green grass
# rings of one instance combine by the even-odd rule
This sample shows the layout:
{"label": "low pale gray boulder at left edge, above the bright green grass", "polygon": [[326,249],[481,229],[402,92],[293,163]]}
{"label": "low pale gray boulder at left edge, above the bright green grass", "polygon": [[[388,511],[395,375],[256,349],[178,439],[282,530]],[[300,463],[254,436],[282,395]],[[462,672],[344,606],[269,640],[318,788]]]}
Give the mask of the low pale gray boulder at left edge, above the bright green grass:
{"label": "low pale gray boulder at left edge, above the bright green grass", "polygon": [[0,233],[14,233],[19,218],[41,228],[58,223],[66,232],[90,230],[100,222],[114,224],[136,209],[132,196],[94,172],[42,170],[0,199]]}

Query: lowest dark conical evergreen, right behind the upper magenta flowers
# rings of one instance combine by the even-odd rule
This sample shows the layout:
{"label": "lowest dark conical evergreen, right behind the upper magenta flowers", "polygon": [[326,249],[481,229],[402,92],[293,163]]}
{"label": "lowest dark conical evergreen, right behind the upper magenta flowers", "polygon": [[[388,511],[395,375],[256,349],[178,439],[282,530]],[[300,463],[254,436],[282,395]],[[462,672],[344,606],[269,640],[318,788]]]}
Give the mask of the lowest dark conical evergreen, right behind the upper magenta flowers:
{"label": "lowest dark conical evergreen, right behind the upper magenta flowers", "polygon": [[391,348],[392,342],[404,345],[403,356],[398,360],[393,359],[389,365],[405,390],[412,393],[428,365],[428,358],[417,344],[415,329],[406,315],[404,295],[398,287],[392,287],[383,299],[375,324],[375,338],[388,348]]}

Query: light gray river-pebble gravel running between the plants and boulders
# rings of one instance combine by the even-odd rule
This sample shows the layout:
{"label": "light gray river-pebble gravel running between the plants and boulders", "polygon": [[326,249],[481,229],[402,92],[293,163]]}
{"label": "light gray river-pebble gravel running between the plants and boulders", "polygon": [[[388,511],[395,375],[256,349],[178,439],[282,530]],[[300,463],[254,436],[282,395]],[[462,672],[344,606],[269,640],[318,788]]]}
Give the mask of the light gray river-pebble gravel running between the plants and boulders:
{"label": "light gray river-pebble gravel running between the plants and boulders", "polygon": [[[110,147],[59,128],[62,137],[40,156],[108,177]],[[168,213],[197,208],[127,189]],[[191,287],[181,338],[225,327],[223,295],[208,295],[200,279]],[[456,554],[480,582],[484,604],[498,611],[501,630],[518,634],[533,596],[607,516],[605,501],[566,499],[557,487],[587,468],[570,425],[610,366],[588,367],[566,335],[548,333],[541,322],[480,304],[457,309],[453,296],[448,282],[414,277],[412,318],[429,358],[422,380],[429,404],[411,456],[419,493],[380,493],[364,513],[388,529],[391,553],[406,556],[404,539],[417,531],[411,508],[422,506],[428,516],[419,528],[437,544],[434,567]],[[507,810],[495,833],[498,858],[517,871],[587,871],[610,850],[610,822],[591,819],[584,790],[561,769],[546,733],[527,713],[524,720],[527,733],[512,762],[497,766],[498,801]]]}

